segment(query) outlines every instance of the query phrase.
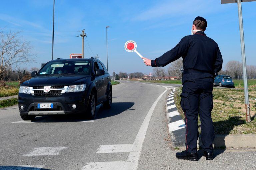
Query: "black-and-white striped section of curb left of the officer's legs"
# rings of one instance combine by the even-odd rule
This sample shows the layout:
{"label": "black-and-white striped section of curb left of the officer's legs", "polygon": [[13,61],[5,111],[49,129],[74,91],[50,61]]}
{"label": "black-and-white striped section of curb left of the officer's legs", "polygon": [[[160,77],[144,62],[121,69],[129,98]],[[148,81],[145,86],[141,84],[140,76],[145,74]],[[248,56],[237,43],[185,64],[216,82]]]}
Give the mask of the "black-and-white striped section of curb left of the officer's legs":
{"label": "black-and-white striped section of curb left of the officer's legs", "polygon": [[171,90],[168,95],[166,103],[166,116],[168,120],[169,134],[171,137],[171,143],[173,147],[185,148],[185,122],[180,116],[178,109],[174,103],[174,92],[175,88]]}

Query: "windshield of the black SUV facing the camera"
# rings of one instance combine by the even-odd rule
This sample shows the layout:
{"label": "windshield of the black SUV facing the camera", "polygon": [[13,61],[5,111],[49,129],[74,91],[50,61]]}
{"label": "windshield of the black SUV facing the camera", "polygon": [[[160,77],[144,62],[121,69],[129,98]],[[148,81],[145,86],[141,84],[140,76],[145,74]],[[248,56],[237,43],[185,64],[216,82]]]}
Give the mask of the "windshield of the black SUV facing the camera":
{"label": "windshield of the black SUV facing the camera", "polygon": [[53,61],[45,64],[37,75],[90,75],[89,61]]}

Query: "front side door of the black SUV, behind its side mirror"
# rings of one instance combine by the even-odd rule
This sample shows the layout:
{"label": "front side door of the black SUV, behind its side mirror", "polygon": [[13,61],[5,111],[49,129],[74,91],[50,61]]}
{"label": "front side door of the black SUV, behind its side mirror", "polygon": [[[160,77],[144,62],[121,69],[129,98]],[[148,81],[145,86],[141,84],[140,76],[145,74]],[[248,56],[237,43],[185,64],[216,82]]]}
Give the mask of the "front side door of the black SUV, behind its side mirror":
{"label": "front side door of the black SUV, behind its side mirror", "polygon": [[[97,61],[95,61],[93,64],[94,75],[96,75],[96,70],[99,70],[99,65]],[[97,103],[99,103],[104,100],[104,79],[102,75],[95,76],[95,84],[97,86]]]}

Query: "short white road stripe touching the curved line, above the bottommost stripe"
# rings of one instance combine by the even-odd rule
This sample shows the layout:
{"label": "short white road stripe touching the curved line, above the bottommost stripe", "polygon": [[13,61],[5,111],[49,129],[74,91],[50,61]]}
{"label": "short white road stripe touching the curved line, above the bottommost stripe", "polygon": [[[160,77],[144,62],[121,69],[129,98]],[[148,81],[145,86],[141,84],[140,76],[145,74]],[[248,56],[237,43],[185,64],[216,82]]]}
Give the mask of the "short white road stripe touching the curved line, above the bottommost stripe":
{"label": "short white road stripe touching the curved line, above the bottommost stripe", "polygon": [[117,153],[138,151],[139,145],[119,144],[119,145],[100,145],[96,153]]}

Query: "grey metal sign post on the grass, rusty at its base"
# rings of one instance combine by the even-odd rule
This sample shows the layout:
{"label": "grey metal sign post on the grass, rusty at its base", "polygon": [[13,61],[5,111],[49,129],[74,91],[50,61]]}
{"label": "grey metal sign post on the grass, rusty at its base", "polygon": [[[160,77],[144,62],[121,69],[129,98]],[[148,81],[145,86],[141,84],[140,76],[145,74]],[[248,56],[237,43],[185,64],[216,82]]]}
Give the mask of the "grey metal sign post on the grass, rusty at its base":
{"label": "grey metal sign post on the grass, rusty at its base", "polygon": [[243,27],[243,16],[242,16],[242,4],[241,2],[252,2],[256,0],[221,0],[221,4],[237,3],[238,5],[238,18],[239,18],[239,30],[240,30],[240,42],[241,42],[241,53],[242,53],[242,65],[243,65],[243,79],[244,79],[244,97],[245,97],[245,112],[246,121],[251,121],[250,103],[247,85],[247,72],[246,72],[246,59],[245,59],[245,47],[244,47],[244,27]]}

